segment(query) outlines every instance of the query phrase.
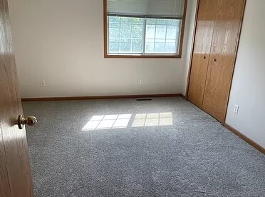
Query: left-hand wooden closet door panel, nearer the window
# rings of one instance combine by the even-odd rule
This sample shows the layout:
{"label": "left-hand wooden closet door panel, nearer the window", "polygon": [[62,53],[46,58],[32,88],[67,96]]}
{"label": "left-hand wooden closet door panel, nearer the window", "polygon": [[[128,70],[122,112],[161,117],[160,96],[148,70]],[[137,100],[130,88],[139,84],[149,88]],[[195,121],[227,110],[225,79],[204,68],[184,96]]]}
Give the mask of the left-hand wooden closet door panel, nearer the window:
{"label": "left-hand wooden closet door panel, nearer the window", "polygon": [[202,108],[218,0],[200,0],[189,77],[188,100]]}

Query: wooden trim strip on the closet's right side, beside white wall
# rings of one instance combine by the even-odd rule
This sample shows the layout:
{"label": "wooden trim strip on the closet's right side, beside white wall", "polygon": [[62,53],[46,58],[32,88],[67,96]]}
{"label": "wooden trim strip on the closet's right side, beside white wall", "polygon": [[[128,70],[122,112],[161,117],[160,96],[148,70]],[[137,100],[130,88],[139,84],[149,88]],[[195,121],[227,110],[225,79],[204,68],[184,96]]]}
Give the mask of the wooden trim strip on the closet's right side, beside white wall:
{"label": "wooden trim strip on the closet's right side, beside white wall", "polygon": [[240,21],[240,24],[239,24],[239,36],[237,38],[238,39],[237,40],[237,49],[236,49],[236,55],[235,55],[235,58],[234,58],[234,67],[233,67],[233,71],[232,71],[232,77],[231,77],[230,84],[229,84],[229,94],[228,94],[228,98],[227,98],[227,106],[226,106],[225,113],[224,113],[224,118],[223,118],[223,121],[222,121],[222,125],[223,126],[225,125],[225,121],[227,120],[227,109],[228,109],[229,98],[230,98],[231,89],[232,89],[232,82],[233,82],[233,79],[234,79],[234,68],[236,67],[236,63],[237,63],[237,53],[239,51],[239,42],[240,42],[240,38],[241,38],[241,30],[242,30],[242,24],[243,24],[243,21],[244,21],[245,10],[246,10],[246,0],[244,0],[244,6],[243,6],[243,11],[242,11],[241,21]]}

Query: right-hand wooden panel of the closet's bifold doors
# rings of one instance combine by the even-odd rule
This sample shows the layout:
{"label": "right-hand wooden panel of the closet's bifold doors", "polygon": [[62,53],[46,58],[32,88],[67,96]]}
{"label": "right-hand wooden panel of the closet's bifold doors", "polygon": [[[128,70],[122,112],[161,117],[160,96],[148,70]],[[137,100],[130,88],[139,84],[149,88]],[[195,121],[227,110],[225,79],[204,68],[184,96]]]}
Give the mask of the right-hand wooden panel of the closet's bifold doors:
{"label": "right-hand wooden panel of the closet's bifold doors", "polygon": [[245,0],[219,0],[202,109],[223,122]]}

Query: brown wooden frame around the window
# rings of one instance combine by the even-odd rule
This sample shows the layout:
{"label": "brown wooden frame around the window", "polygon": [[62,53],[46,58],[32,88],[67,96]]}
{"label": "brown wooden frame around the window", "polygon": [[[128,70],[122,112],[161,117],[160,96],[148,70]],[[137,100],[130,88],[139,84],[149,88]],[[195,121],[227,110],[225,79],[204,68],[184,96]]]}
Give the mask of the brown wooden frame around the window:
{"label": "brown wooden frame around the window", "polygon": [[[125,58],[125,59],[133,59],[133,58],[152,58],[152,59],[165,59],[165,58],[182,58],[182,46],[185,32],[185,19],[187,12],[187,0],[185,0],[184,11],[182,24],[180,29],[180,44],[179,46],[179,54],[108,54],[108,15],[107,15],[107,0],[103,0],[103,30],[104,30],[104,57],[105,58]],[[146,27],[145,27],[146,28]]]}

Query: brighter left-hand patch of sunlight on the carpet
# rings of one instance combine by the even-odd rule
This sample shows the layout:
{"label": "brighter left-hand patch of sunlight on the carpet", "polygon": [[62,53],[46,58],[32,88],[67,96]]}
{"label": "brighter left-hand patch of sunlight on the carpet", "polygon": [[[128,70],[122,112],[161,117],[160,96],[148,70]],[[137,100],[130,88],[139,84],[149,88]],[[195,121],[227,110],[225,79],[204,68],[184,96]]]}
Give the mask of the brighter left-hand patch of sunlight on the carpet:
{"label": "brighter left-hand patch of sunlight on the carpet", "polygon": [[110,129],[110,128],[126,128],[132,114],[115,114],[93,116],[90,121],[82,128],[82,131]]}

